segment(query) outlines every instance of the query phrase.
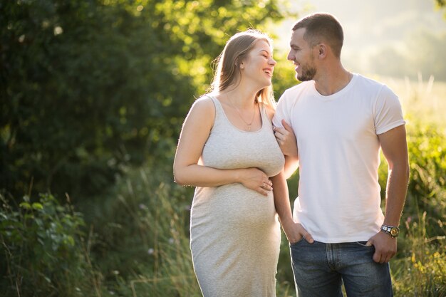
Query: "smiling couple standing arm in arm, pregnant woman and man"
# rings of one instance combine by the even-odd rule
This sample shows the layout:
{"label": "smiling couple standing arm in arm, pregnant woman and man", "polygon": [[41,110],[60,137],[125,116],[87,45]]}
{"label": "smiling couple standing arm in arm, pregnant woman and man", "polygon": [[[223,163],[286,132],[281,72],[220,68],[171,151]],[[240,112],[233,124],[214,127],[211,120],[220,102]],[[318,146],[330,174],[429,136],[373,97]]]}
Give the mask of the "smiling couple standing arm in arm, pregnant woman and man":
{"label": "smiling couple standing arm in arm, pregnant woman and man", "polygon": [[[408,185],[405,121],[385,85],[350,73],[343,30],[331,14],[292,29],[288,60],[302,83],[277,106],[271,40],[237,33],[217,59],[207,95],[192,105],[174,162],[175,181],[197,187],[190,247],[203,296],[276,296],[280,226],[299,297],[392,296]],[[385,215],[379,151],[388,161]],[[286,178],[299,167],[291,214]]]}

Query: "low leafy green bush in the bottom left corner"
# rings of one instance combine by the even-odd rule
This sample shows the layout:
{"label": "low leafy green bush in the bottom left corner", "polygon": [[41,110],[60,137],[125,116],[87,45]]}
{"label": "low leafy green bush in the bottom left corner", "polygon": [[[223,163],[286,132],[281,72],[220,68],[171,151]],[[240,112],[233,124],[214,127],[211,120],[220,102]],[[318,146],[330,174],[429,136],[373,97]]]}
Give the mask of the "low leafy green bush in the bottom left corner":
{"label": "low leafy green bush in the bottom left corner", "polygon": [[50,194],[19,209],[0,195],[2,296],[92,296],[96,274],[83,241],[83,216]]}

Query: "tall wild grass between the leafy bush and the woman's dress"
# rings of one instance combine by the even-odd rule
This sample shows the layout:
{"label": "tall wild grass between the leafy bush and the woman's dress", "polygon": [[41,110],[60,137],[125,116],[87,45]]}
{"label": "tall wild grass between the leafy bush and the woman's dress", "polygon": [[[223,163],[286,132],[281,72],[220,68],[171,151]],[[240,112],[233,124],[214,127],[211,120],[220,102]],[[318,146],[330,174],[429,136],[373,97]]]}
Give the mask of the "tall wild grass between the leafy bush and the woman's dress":
{"label": "tall wild grass between the leafy bush and the woman's dress", "polygon": [[192,188],[172,182],[171,163],[164,173],[153,167],[129,172],[115,196],[110,194],[108,206],[93,209],[102,219],[92,223],[104,226],[97,230],[104,291],[133,297],[201,296],[189,249]]}

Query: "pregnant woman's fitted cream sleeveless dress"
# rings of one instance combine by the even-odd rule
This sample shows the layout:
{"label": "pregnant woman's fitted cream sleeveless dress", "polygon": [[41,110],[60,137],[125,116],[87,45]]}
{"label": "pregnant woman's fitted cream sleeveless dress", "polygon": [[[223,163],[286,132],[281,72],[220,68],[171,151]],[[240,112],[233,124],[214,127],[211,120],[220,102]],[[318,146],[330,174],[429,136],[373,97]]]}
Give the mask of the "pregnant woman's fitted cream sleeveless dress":
{"label": "pregnant woman's fitted cream sleeveless dress", "polygon": [[[278,174],[284,156],[261,105],[261,130],[229,122],[217,98],[214,126],[202,162],[218,169],[258,167]],[[202,99],[200,99],[202,100]],[[276,296],[280,226],[272,192],[263,196],[240,183],[197,187],[190,219],[190,248],[205,297]]]}

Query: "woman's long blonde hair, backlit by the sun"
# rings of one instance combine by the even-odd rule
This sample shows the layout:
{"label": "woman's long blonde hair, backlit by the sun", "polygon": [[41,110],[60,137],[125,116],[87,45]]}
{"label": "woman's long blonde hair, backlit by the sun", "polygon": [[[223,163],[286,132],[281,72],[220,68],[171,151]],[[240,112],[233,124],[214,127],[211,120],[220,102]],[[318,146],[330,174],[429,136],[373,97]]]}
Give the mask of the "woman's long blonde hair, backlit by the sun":
{"label": "woman's long blonde hair, backlit by the sun", "polygon": [[[271,47],[271,38],[261,31],[249,29],[247,31],[234,34],[224,46],[222,53],[214,60],[217,64],[212,83],[207,89],[209,93],[220,93],[237,82],[242,71],[240,71],[239,63],[247,56],[249,51],[254,48],[256,41],[264,40]],[[276,100],[274,100],[274,93],[272,85],[259,90],[256,94],[256,100],[259,103],[269,105],[271,108],[276,108]]]}

